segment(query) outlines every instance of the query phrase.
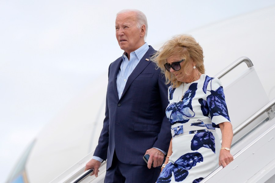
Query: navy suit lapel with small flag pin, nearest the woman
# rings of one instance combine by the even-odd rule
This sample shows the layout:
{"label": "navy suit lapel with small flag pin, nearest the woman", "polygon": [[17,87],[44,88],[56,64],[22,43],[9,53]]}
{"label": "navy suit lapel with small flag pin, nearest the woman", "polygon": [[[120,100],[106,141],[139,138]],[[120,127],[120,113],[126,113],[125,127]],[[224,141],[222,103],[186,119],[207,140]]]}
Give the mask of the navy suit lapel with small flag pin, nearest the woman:
{"label": "navy suit lapel with small flag pin, nearest the woman", "polygon": [[155,53],[155,50],[152,48],[152,46],[149,46],[148,51],[145,53],[145,55],[142,57],[142,59],[139,61],[138,65],[135,67],[133,72],[130,74],[130,76],[127,79],[126,85],[124,87],[123,93],[120,97],[120,99],[123,97],[123,95],[126,93],[134,79],[138,77],[138,75],[148,66],[148,64],[151,62],[150,56],[152,56]]}

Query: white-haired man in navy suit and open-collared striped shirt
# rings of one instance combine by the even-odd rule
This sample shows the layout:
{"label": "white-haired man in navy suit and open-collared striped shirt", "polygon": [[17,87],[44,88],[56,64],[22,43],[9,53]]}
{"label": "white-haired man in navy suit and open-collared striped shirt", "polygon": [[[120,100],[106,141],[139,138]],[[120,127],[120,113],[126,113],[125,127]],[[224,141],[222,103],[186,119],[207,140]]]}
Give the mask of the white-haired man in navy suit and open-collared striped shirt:
{"label": "white-haired man in navy suit and open-collared striped shirt", "polygon": [[[171,140],[165,116],[168,86],[150,61],[156,51],[144,40],[147,27],[141,11],[117,14],[116,38],[124,53],[109,66],[103,129],[85,168],[94,168],[97,177],[101,162],[108,159],[105,183],[155,182]],[[150,155],[148,165],[145,154]]]}

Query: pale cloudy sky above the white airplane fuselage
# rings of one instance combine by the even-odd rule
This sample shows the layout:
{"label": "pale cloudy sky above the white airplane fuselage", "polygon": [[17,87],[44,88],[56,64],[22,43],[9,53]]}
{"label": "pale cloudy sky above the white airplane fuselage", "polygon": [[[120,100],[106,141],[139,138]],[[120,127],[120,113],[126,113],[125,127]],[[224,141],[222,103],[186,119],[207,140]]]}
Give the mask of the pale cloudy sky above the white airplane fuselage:
{"label": "pale cloudy sky above the white airplane fuselage", "polygon": [[1,0],[0,182],[39,131],[122,55],[114,27],[120,10],[145,13],[146,42],[157,48],[175,34],[271,5],[275,0]]}

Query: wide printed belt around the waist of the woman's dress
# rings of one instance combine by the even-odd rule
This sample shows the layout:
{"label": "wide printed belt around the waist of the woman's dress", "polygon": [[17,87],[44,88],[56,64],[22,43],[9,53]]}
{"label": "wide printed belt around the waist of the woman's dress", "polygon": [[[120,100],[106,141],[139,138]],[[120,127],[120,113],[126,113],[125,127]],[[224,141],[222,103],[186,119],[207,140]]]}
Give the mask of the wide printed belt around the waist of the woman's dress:
{"label": "wide printed belt around the waist of the woman's dress", "polygon": [[[215,128],[211,126],[212,122],[198,122],[198,123],[191,123],[191,124],[183,124],[171,129],[171,134],[173,138],[194,134],[204,131],[211,131],[216,132]],[[207,128],[208,126],[208,128]]]}

